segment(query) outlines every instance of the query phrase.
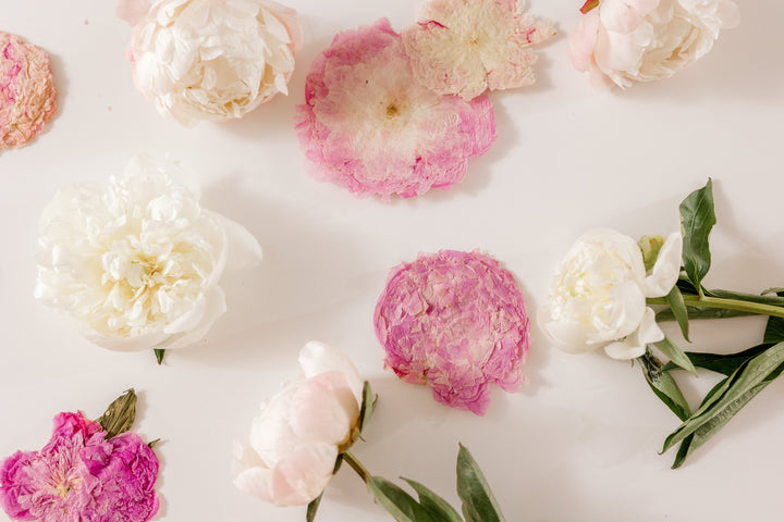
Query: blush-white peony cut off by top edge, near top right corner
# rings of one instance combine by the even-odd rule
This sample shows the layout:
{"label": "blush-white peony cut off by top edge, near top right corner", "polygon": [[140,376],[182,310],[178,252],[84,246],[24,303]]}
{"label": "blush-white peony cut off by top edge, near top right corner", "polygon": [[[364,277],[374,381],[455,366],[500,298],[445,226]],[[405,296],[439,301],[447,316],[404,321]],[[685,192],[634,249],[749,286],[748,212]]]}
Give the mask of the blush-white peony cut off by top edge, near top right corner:
{"label": "blush-white peony cut off by top edge, near top right corner", "polygon": [[600,0],[572,36],[572,63],[589,71],[595,85],[666,78],[738,21],[732,0]]}

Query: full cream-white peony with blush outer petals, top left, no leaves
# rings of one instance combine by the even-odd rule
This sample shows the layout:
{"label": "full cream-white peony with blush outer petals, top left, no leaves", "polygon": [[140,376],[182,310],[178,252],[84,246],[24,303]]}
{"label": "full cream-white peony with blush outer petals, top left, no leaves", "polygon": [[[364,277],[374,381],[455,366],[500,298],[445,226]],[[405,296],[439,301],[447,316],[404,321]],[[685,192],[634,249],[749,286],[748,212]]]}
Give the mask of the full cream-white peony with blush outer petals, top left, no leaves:
{"label": "full cream-white peony with blush outer petals, top left, no leaves", "polygon": [[[121,12],[138,16],[133,5]],[[270,0],[159,0],[134,27],[130,55],[136,88],[191,125],[287,94],[301,45],[296,13]]]}

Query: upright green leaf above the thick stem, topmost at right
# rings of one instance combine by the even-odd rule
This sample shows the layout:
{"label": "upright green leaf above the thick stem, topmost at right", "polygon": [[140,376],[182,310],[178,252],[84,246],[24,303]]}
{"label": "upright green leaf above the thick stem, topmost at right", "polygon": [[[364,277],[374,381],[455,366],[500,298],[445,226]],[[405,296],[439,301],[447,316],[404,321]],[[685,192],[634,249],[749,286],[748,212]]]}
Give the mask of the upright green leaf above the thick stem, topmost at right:
{"label": "upright green leaf above the thick stem, topmost at right", "polygon": [[713,182],[689,194],[679,207],[683,234],[683,261],[689,282],[702,295],[700,283],[710,269],[708,236],[715,225],[713,212]]}

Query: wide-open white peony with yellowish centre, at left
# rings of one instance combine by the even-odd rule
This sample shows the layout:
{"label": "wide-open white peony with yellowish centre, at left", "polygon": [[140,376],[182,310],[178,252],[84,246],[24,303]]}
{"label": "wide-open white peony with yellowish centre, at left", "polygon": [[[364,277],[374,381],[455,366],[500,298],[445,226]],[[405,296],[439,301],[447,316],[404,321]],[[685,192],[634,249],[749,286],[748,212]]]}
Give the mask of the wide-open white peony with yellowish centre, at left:
{"label": "wide-open white peony with yellowish centre, at left", "polygon": [[244,227],[201,209],[174,174],[137,157],[122,178],[68,186],[44,211],[35,295],[105,348],[199,340],[225,311],[224,269],[261,259]]}

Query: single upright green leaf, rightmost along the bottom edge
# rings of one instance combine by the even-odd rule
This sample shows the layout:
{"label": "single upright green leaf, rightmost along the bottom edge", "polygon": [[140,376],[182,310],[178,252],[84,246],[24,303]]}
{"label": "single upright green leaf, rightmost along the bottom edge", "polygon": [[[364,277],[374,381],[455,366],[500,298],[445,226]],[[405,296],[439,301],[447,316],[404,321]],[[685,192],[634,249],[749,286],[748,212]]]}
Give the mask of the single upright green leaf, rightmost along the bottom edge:
{"label": "single upright green leaf, rightmost along the bottom edge", "polygon": [[463,445],[457,453],[457,495],[466,522],[504,522],[485,474]]}

